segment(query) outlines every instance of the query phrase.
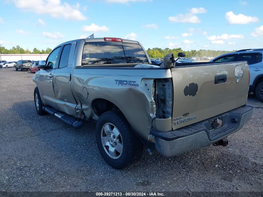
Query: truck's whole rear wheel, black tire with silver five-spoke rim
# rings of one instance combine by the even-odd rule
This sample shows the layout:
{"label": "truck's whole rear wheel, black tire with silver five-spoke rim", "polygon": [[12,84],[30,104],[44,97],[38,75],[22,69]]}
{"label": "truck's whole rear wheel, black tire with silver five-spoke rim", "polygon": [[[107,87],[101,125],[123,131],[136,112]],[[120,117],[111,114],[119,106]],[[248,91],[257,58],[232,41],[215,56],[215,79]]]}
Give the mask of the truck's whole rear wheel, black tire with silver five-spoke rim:
{"label": "truck's whole rear wheel, black tire with silver five-spoke rim", "polygon": [[96,140],[101,156],[115,169],[124,169],[142,156],[143,144],[119,110],[107,111],[99,117]]}

